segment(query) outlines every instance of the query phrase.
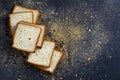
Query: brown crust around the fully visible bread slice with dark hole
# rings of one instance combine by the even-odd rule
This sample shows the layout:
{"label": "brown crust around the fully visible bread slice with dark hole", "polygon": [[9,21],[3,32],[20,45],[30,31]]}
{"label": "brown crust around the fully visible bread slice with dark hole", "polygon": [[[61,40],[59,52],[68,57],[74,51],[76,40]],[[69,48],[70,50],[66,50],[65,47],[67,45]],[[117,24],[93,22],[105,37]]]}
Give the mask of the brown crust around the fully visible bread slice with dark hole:
{"label": "brown crust around the fully visible bread slice with dark hole", "polygon": [[[24,23],[18,23],[18,24],[17,24],[17,28],[18,28],[18,25],[19,25],[19,24],[28,25],[28,24],[24,24]],[[32,25],[29,24],[29,26],[32,26]],[[36,26],[33,26],[33,27],[36,27]],[[16,29],[17,29],[17,28],[16,28]],[[39,27],[36,27],[36,28],[39,28]],[[38,35],[38,37],[37,37],[37,41],[36,41],[36,43],[35,43],[35,47],[34,47],[33,51],[28,51],[28,50],[24,50],[24,49],[16,48],[16,47],[14,46],[14,38],[15,38],[15,35],[16,35],[16,31],[15,31],[15,35],[14,35],[14,37],[13,37],[13,44],[12,44],[12,47],[13,47],[13,48],[16,48],[16,49],[18,49],[18,50],[25,51],[25,52],[34,53],[35,50],[36,50],[36,48],[37,48],[36,45],[37,45],[37,42],[38,42],[38,40],[39,40],[40,33],[41,33],[41,28],[39,28],[39,29],[40,29],[40,32],[39,32],[39,35]]]}

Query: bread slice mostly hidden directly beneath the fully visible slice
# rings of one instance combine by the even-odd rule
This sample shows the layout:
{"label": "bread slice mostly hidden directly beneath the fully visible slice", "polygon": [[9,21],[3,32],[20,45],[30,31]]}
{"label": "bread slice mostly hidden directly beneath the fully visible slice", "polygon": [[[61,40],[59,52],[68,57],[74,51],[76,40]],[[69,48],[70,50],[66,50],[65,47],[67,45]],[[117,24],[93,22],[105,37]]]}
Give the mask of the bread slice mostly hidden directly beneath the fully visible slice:
{"label": "bread slice mostly hidden directly beneath the fully visible slice", "polygon": [[41,28],[40,37],[39,37],[39,40],[38,40],[38,43],[37,43],[37,46],[41,48],[42,44],[43,44],[44,36],[45,36],[46,26],[45,25],[38,25],[38,24],[28,23],[28,22],[24,22],[24,21],[22,21],[21,23],[30,24],[30,25]]}

